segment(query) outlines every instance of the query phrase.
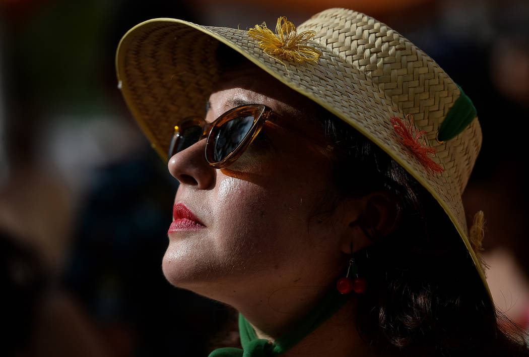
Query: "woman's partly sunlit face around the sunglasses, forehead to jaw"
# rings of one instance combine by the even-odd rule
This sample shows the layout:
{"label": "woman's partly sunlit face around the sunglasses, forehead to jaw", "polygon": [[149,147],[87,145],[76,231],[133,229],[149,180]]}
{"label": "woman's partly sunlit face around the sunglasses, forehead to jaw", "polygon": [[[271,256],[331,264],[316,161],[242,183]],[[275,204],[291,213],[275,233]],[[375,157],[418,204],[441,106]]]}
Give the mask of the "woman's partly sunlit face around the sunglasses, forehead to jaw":
{"label": "woman's partly sunlit face around the sunglasses, forehead to jaw", "polygon": [[[242,103],[266,104],[292,120],[314,109],[261,70],[241,68],[222,77],[206,121]],[[228,304],[241,294],[333,283],[346,262],[341,227],[350,215],[330,203],[331,160],[309,141],[265,127],[235,163],[215,169],[205,160],[205,141],[169,160],[180,181],[175,204],[203,226],[170,229],[166,278]]]}

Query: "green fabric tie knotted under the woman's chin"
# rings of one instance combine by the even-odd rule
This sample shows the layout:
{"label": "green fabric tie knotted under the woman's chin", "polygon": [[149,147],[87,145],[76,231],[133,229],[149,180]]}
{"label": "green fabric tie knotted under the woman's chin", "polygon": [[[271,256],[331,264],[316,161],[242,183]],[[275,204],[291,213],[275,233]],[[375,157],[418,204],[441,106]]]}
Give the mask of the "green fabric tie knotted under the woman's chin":
{"label": "green fabric tie knotted under the woman's chin", "polygon": [[239,333],[241,335],[241,349],[223,347],[211,352],[208,357],[272,357],[285,353],[295,346],[305,336],[313,332],[329,317],[334,315],[350,298],[349,294],[341,294],[333,289],[310,313],[285,335],[275,342],[258,338],[252,325],[239,314]]}

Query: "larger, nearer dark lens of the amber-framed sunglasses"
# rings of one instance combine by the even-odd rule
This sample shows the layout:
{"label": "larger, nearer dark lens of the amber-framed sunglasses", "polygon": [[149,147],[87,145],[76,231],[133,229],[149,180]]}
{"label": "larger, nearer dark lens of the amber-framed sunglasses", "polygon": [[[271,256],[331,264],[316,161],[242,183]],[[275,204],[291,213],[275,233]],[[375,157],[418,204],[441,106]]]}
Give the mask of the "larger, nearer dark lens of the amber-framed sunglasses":
{"label": "larger, nearer dark lens of the amber-framed sunglasses", "polygon": [[225,122],[215,136],[213,158],[215,162],[224,160],[241,144],[252,128],[253,117],[238,117]]}

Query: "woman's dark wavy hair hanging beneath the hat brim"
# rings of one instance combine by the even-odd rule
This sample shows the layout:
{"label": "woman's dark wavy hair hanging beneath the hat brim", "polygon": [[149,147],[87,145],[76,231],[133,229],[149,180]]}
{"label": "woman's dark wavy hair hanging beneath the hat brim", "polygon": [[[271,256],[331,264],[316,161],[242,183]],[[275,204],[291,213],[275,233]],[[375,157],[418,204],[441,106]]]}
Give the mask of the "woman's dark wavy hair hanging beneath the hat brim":
{"label": "woman's dark wavy hair hanging beneath the hat brim", "polygon": [[405,355],[529,355],[521,334],[501,331],[470,254],[432,195],[349,124],[323,109],[320,118],[348,152],[335,165],[339,192],[386,191],[402,214],[394,233],[355,257],[369,282],[358,295],[364,341]]}

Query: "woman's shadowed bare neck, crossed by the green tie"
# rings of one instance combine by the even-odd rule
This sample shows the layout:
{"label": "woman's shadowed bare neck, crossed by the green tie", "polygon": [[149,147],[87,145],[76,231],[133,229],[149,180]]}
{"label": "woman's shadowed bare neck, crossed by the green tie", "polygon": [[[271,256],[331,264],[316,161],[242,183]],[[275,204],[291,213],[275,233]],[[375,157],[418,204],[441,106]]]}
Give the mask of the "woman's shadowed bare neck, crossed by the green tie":
{"label": "woman's shadowed bare neck, crossed by the green tie", "polygon": [[[336,271],[341,272],[339,267]],[[194,287],[186,287],[211,299],[222,301],[238,310],[253,326],[258,338],[271,342],[280,340],[285,334],[296,331],[297,325],[304,317],[311,315],[313,309],[327,296],[335,291],[336,276],[340,273],[327,271],[321,280],[291,277],[291,285],[264,284],[262,279],[245,277],[238,289],[233,290],[233,283],[208,282]],[[281,276],[282,280],[288,278]],[[294,279],[295,278],[295,279]],[[306,281],[312,284],[307,286]],[[282,287],[281,287],[282,285]],[[279,286],[279,288],[278,288]],[[207,289],[206,289],[207,288]],[[319,324],[298,343],[281,356],[369,356],[374,351],[368,350],[357,331],[356,308],[357,296],[354,293],[345,296],[348,300],[338,311]]]}

